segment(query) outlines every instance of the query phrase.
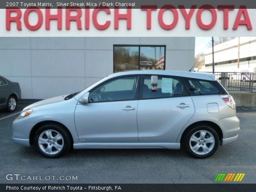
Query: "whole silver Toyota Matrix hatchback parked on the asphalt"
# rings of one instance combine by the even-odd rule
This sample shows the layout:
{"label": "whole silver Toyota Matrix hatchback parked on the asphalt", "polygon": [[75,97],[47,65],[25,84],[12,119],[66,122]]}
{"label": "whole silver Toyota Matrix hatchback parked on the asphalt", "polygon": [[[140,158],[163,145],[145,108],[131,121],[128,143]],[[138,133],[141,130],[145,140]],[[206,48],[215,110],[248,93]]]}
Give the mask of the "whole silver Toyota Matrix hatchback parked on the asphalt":
{"label": "whole silver Toyota Matrix hatchback parked on the asphalt", "polygon": [[138,70],[27,106],[13,140],[50,158],[71,148],[184,148],[206,158],[239,130],[236,104],[214,74]]}

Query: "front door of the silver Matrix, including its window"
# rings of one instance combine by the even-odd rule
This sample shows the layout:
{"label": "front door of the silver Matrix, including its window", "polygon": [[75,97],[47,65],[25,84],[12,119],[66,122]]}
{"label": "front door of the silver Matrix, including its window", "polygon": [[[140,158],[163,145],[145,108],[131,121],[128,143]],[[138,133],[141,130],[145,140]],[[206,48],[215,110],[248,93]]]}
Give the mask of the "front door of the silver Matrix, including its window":
{"label": "front door of the silver Matrix, including its window", "polygon": [[88,104],[77,104],[75,123],[81,142],[138,142],[139,77],[108,80],[90,91]]}

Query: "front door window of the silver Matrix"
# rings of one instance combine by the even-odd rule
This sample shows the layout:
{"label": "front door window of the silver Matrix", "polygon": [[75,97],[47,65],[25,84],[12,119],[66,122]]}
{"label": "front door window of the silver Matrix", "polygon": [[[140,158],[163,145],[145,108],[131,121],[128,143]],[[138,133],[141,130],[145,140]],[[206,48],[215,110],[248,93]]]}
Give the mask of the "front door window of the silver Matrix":
{"label": "front door window of the silver Matrix", "polygon": [[110,80],[90,92],[89,102],[134,100],[137,82],[138,76]]}

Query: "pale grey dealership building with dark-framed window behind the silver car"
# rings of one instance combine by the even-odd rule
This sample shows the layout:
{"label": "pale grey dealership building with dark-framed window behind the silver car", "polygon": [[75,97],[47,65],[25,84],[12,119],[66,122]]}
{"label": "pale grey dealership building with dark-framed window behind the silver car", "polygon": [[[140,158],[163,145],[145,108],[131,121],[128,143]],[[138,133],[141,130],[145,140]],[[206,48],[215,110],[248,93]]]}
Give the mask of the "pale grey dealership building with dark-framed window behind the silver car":
{"label": "pale grey dealership building with dark-framed window behind the silver car", "polygon": [[194,37],[1,37],[0,75],[22,99],[77,92],[124,70],[188,71]]}

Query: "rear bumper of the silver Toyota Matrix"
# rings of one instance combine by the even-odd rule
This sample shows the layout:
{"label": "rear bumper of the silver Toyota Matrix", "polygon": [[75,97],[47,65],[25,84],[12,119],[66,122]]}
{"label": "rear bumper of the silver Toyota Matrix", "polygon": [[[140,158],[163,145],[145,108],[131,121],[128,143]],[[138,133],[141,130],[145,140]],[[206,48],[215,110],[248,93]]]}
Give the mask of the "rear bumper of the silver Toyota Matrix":
{"label": "rear bumper of the silver Toyota Matrix", "polygon": [[240,120],[236,116],[223,118],[218,121],[223,134],[220,145],[232,143],[238,139],[240,131]]}

